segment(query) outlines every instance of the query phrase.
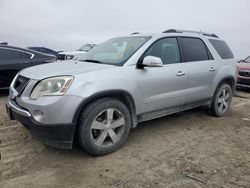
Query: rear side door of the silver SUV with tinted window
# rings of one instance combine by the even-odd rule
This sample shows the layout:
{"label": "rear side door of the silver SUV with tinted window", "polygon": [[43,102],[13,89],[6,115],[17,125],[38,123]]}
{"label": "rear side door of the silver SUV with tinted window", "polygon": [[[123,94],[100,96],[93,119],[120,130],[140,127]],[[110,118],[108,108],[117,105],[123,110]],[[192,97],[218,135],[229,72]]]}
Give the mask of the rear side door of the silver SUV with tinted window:
{"label": "rear side door of the silver SUV with tinted window", "polygon": [[206,44],[200,38],[180,37],[184,61],[187,64],[188,94],[187,106],[198,106],[208,100],[217,71]]}

